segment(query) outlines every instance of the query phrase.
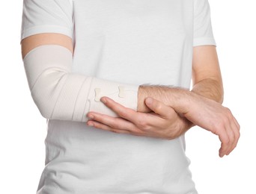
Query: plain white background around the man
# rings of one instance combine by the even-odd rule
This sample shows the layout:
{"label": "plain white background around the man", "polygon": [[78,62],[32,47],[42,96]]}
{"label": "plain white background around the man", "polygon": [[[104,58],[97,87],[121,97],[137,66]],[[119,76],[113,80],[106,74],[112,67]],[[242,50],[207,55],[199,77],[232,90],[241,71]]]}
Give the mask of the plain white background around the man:
{"label": "plain white background around the man", "polygon": [[[192,160],[198,193],[256,193],[255,2],[209,1],[225,84],[224,105],[240,122],[241,138],[233,153],[220,159],[218,137],[193,128],[186,136],[186,154]],[[11,194],[36,192],[46,137],[46,120],[32,101],[22,65],[21,16],[22,0],[1,1],[0,193]]]}

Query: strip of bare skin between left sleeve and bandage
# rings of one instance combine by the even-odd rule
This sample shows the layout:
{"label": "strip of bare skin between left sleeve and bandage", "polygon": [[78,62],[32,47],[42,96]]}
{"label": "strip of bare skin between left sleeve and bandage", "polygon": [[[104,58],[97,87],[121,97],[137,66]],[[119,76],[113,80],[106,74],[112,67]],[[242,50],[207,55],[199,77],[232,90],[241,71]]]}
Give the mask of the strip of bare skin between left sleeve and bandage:
{"label": "strip of bare skin between left sleeve and bandage", "polygon": [[71,52],[73,52],[73,43],[72,39],[64,34],[56,34],[56,33],[43,33],[43,34],[35,34],[29,37],[25,37],[22,42],[22,58],[28,54],[33,48],[37,46],[43,45],[59,45],[68,48]]}

